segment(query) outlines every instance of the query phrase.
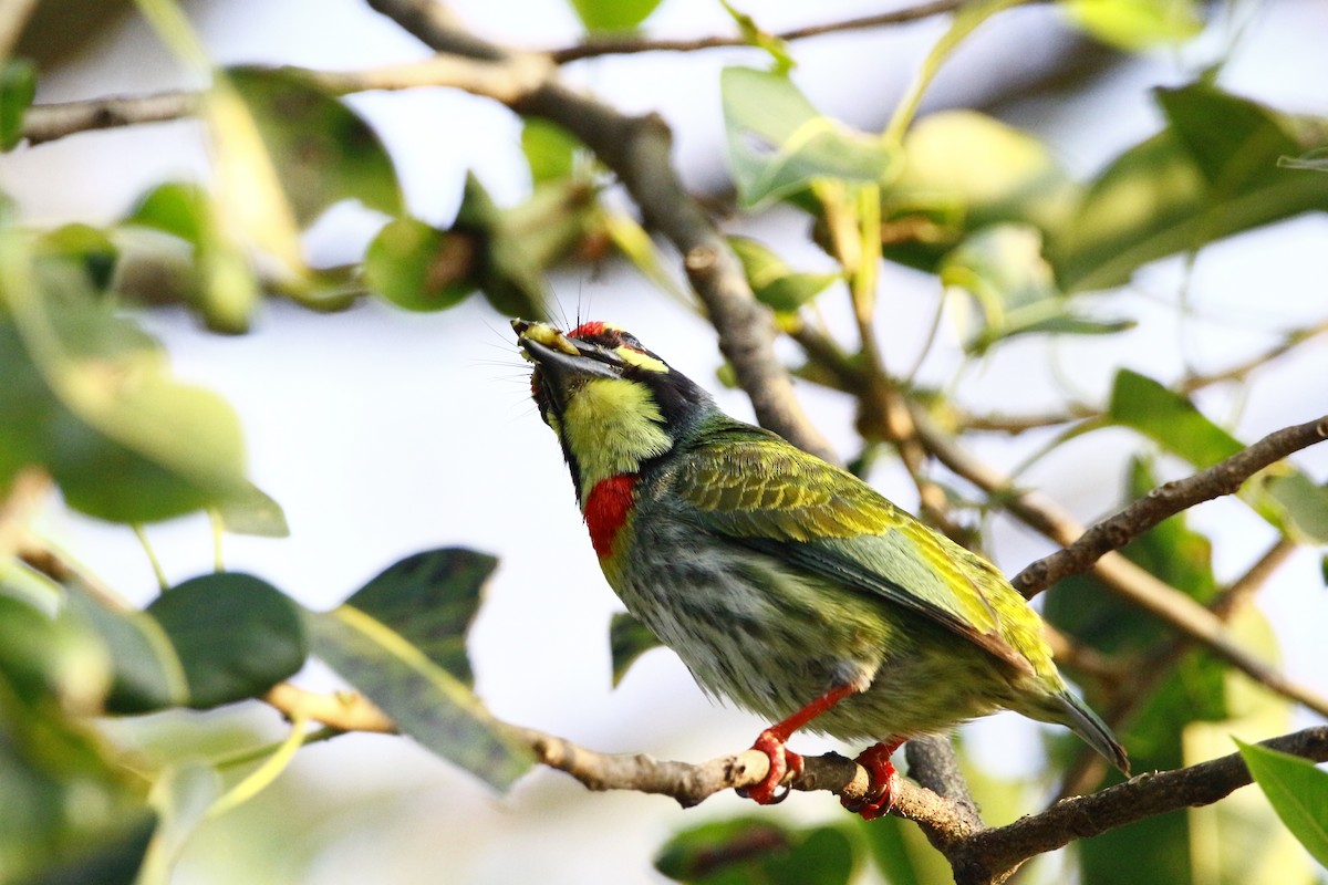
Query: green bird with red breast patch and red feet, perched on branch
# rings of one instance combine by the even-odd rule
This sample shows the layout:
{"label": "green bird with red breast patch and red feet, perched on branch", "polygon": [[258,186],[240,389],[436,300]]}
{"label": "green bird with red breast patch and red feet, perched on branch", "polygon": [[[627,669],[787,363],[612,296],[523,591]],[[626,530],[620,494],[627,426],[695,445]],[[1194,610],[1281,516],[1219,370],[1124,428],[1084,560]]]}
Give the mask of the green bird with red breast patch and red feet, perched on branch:
{"label": "green bird with red breast patch and red feet, perched on branch", "polygon": [[1123,774],[1125,748],[1070,693],[1042,622],[1001,572],[853,474],[725,414],[608,322],[513,320],[591,545],[627,610],[710,697],[773,722],[745,789],[788,796],[807,728],[872,742],[865,819],[898,792],[891,754],[999,710],[1069,727]]}

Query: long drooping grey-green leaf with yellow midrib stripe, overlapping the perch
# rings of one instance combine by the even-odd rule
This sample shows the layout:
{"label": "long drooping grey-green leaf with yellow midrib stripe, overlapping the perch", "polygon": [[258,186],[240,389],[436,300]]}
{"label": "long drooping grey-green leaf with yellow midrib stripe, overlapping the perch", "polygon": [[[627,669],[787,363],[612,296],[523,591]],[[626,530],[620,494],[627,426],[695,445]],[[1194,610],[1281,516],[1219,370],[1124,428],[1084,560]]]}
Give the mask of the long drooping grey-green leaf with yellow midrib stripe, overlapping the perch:
{"label": "long drooping grey-green leaf with yellow midrib stripe, overlapping the perch", "polygon": [[426,750],[503,789],[531,764],[457,677],[396,630],[352,605],[305,612],[313,653]]}

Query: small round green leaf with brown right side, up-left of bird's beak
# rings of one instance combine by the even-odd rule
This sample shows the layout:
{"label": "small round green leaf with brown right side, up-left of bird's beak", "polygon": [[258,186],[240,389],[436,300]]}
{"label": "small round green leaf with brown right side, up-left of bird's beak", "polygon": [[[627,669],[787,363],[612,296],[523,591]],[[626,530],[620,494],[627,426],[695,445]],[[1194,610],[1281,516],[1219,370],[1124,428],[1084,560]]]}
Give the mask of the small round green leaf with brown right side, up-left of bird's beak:
{"label": "small round green leaf with brown right side, up-left of bird's beak", "polygon": [[445,310],[475,291],[471,241],[413,218],[388,222],[364,255],[364,283],[408,310]]}

